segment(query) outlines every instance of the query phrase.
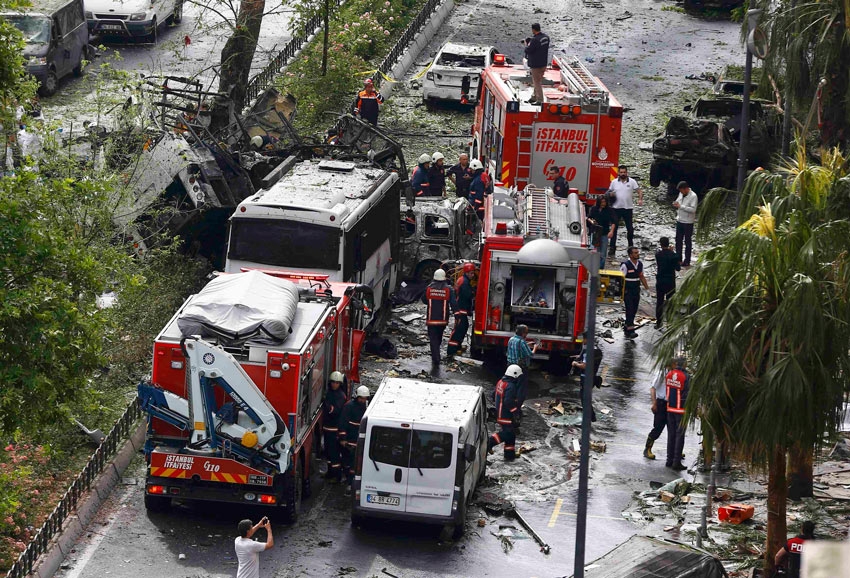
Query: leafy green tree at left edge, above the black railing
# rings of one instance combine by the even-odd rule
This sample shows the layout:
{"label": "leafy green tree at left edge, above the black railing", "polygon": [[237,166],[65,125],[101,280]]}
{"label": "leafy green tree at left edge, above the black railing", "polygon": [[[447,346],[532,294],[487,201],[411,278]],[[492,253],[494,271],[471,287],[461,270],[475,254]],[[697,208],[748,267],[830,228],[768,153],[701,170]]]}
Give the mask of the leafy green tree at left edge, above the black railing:
{"label": "leafy green tree at left edge, above the black railing", "polygon": [[96,298],[122,284],[102,181],[0,178],[0,431],[34,433],[85,396],[103,364]]}

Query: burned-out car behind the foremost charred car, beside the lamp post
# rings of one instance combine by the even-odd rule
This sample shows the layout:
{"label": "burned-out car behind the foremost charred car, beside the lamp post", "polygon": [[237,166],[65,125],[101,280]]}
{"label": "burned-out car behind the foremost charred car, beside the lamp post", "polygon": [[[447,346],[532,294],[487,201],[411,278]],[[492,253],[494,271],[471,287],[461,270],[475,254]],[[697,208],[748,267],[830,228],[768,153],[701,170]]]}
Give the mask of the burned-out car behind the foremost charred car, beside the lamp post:
{"label": "burned-out car behind the foremost charred car, beside the lamp post", "polygon": [[[696,119],[722,122],[729,129],[735,144],[741,144],[741,111],[743,101],[734,97],[700,98],[693,105],[686,106]],[[750,101],[750,134],[747,146],[747,159],[751,169],[763,166],[770,160],[770,153],[776,147],[782,132],[782,119],[776,109],[764,100]]]}

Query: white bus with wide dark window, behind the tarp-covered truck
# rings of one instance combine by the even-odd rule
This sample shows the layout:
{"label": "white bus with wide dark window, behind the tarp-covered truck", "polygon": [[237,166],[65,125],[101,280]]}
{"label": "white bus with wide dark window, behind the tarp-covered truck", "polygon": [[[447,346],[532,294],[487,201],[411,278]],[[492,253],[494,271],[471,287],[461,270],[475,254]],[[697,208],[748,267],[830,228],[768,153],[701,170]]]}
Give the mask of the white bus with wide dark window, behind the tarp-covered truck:
{"label": "white bus with wide dark window, behind the tarp-covered truck", "polygon": [[399,174],[369,161],[292,156],[266,182],[230,217],[225,271],[323,274],[370,287],[380,309],[398,279]]}

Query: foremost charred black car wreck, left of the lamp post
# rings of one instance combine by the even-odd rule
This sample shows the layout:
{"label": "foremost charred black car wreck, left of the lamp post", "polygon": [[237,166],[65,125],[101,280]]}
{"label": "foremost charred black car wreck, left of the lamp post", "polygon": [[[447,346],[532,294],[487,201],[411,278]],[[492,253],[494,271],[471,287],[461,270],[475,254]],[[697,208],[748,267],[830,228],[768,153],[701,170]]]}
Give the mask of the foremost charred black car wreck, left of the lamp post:
{"label": "foremost charred black car wreck, left of the lamp post", "polygon": [[686,180],[698,195],[712,187],[735,186],[738,146],[722,122],[671,117],[664,134],[652,143],[649,183],[667,182],[667,192]]}

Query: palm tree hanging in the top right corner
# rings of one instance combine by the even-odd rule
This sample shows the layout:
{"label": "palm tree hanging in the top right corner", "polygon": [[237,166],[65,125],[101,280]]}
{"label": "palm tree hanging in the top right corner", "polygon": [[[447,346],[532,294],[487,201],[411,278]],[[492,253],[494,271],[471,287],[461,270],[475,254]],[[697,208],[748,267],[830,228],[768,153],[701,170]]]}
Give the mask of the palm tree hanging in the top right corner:
{"label": "palm tree hanging in the top right corner", "polygon": [[[751,8],[764,10],[770,37],[764,60],[767,75],[784,77],[794,89],[796,102],[815,96],[820,78],[827,84],[821,95],[821,139],[825,145],[850,139],[850,3],[845,0],[754,0]],[[801,108],[801,107],[799,107]],[[786,106],[786,112],[790,113]]]}

